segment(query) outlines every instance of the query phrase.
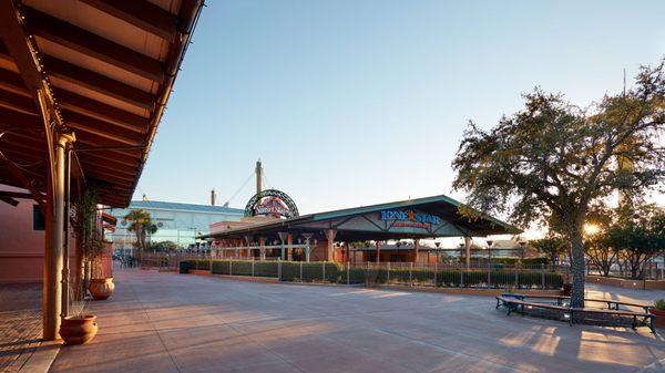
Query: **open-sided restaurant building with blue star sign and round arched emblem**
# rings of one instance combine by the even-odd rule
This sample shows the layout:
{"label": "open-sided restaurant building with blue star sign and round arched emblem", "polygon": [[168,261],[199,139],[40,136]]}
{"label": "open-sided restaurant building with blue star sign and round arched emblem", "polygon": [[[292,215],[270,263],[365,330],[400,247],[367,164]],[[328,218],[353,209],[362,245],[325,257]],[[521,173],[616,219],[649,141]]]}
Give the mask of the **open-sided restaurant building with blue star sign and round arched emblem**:
{"label": "open-sided restaurant building with blue star sign and round arched emblem", "polygon": [[[466,265],[470,266],[472,237],[521,232],[487,215],[473,219],[462,216],[462,204],[444,195],[283,218],[282,213],[293,201],[276,197],[278,190],[267,191],[250,200],[242,221],[212,225],[211,234],[202,236],[216,257],[432,262],[439,256],[436,249],[421,246],[421,240],[460,237]],[[266,208],[268,203],[272,209]],[[259,215],[263,221],[256,220]]]}

